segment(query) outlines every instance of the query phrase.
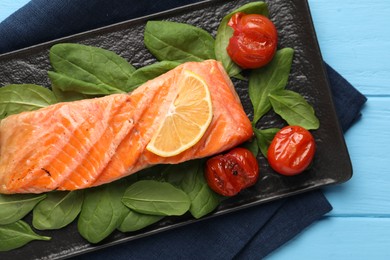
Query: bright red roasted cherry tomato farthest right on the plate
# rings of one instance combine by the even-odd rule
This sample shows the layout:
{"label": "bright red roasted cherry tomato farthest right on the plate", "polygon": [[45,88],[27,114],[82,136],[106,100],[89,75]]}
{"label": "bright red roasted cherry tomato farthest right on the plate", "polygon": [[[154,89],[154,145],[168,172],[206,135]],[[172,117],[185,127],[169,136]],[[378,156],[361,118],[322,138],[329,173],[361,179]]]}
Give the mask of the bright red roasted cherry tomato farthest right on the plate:
{"label": "bright red roasted cherry tomato farthest right on the plate", "polygon": [[268,148],[268,162],[283,175],[303,172],[311,163],[316,150],[312,134],[300,126],[286,126],[276,133]]}

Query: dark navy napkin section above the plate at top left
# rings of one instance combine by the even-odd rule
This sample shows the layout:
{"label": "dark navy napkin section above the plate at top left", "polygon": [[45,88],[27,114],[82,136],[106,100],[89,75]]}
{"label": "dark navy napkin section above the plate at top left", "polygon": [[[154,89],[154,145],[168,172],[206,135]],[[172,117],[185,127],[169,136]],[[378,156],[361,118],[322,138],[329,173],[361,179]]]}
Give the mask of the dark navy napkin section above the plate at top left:
{"label": "dark navy napkin section above the plate at top left", "polygon": [[0,24],[0,54],[200,0],[32,0]]}

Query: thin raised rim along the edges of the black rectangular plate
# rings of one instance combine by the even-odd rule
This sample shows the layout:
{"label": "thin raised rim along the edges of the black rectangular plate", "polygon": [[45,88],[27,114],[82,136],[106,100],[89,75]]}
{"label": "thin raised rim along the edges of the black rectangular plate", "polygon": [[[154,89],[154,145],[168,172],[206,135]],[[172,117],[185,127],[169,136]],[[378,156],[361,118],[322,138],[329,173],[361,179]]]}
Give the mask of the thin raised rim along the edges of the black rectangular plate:
{"label": "thin raised rim along the edges of the black rectangular plate", "polygon": [[[229,2],[232,2],[232,1],[234,1],[234,0],[229,0]],[[292,0],[292,1],[295,1],[295,0]],[[300,1],[305,5],[305,13],[308,14],[308,18],[310,20],[309,22],[310,22],[311,32],[309,34],[310,34],[310,37],[313,38],[313,41],[316,43],[316,46],[315,46],[316,50],[315,50],[315,52],[320,56],[319,58],[322,59],[322,54],[321,54],[321,51],[320,51],[320,46],[319,46],[319,43],[318,43],[317,34],[315,32],[315,27],[314,27],[314,24],[313,24],[313,20],[312,20],[312,16],[311,16],[311,12],[310,12],[310,7],[309,7],[309,4],[308,4],[308,1],[307,0],[300,0]],[[113,23],[113,24],[110,24],[110,25],[98,27],[98,28],[95,28],[95,29],[83,31],[83,32],[80,32],[80,33],[76,33],[76,34],[60,37],[60,38],[53,39],[53,40],[50,40],[50,41],[38,43],[38,44],[31,45],[31,46],[28,46],[28,47],[25,47],[25,48],[21,48],[21,49],[18,49],[18,50],[14,50],[14,51],[10,51],[10,52],[6,52],[6,53],[3,53],[3,54],[0,54],[0,61],[1,60],[7,60],[7,59],[13,59],[13,58],[18,57],[20,55],[23,55],[26,52],[42,51],[42,50],[47,49],[47,47],[52,46],[52,45],[54,45],[56,43],[66,42],[66,41],[68,41],[68,42],[69,41],[77,41],[77,40],[81,40],[81,39],[83,39],[85,37],[88,37],[88,36],[93,36],[93,35],[95,35],[97,33],[102,33],[104,31],[110,31],[112,29],[119,30],[120,28],[125,28],[126,25],[131,25],[131,24],[134,24],[134,23],[142,23],[142,22],[145,22],[145,21],[150,20],[150,19],[155,18],[155,17],[158,17],[158,18],[161,19],[164,16],[170,16],[171,14],[178,14],[179,12],[182,12],[182,11],[188,11],[191,8],[202,8],[204,6],[207,7],[207,6],[209,6],[210,4],[213,4],[213,3],[222,3],[222,2],[226,2],[226,0],[204,0],[204,1],[197,2],[197,3],[192,3],[192,4],[176,7],[176,8],[173,8],[173,9],[164,10],[164,11],[161,11],[161,12],[148,14],[148,15],[145,15],[145,16],[141,16],[141,17],[137,17],[137,18],[121,21],[121,22],[118,22],[118,23]],[[251,1],[251,2],[253,2],[253,1]],[[265,2],[268,2],[268,1],[266,0]],[[333,102],[333,98],[332,98],[332,95],[331,95],[331,90],[330,90],[330,87],[329,87],[329,80],[328,80],[328,77],[327,77],[325,65],[322,64],[318,68],[318,70],[321,71],[320,73],[322,74],[323,79],[326,81],[327,89],[328,89],[327,95],[329,95],[329,98],[332,99],[332,102],[331,102],[332,111],[331,111],[331,113],[333,113],[334,115],[337,115],[336,114],[336,110],[335,110],[335,106],[334,106],[334,102]],[[337,131],[342,133],[341,126],[340,126],[340,123],[338,122],[338,120],[336,122],[336,125],[338,127]],[[348,149],[347,149],[347,145],[346,145],[345,139],[343,138],[342,134],[341,134],[341,140],[340,141],[343,142],[343,146],[345,146],[345,150],[346,150],[347,156],[348,156],[348,158],[350,158],[349,152],[348,152]],[[306,187],[306,188],[302,188],[302,189],[299,189],[299,190],[296,190],[296,191],[289,192],[288,194],[284,194],[284,195],[277,194],[274,197],[268,197],[266,199],[262,199],[261,201],[249,202],[247,204],[244,204],[244,205],[241,205],[241,206],[237,206],[235,208],[220,210],[220,211],[212,213],[212,214],[210,214],[208,216],[202,217],[201,219],[193,218],[193,219],[190,219],[190,220],[185,220],[183,222],[175,223],[173,225],[169,225],[167,227],[162,227],[162,228],[159,228],[159,229],[151,230],[151,231],[148,231],[147,233],[137,234],[135,237],[124,237],[124,238],[121,238],[121,239],[118,239],[118,240],[115,240],[115,241],[111,241],[111,242],[104,243],[104,244],[96,244],[96,245],[88,243],[88,241],[86,241],[86,243],[88,243],[90,245],[89,247],[87,247],[85,249],[81,249],[81,250],[79,250],[77,252],[71,252],[70,254],[60,255],[60,256],[58,256],[58,258],[55,257],[55,259],[62,259],[62,258],[67,258],[67,257],[79,256],[79,255],[90,253],[90,252],[93,252],[93,251],[96,251],[96,250],[99,250],[99,249],[104,249],[104,248],[111,247],[111,246],[118,245],[118,244],[122,244],[122,243],[125,243],[125,242],[128,242],[128,241],[136,240],[136,239],[139,239],[139,238],[142,238],[142,237],[154,235],[154,234],[163,232],[165,230],[179,228],[181,226],[185,226],[185,225],[188,225],[188,224],[191,224],[191,223],[195,223],[195,222],[199,222],[199,221],[205,221],[205,220],[208,220],[210,218],[214,218],[214,217],[218,217],[218,216],[225,215],[225,214],[228,214],[228,213],[236,212],[236,211],[239,211],[239,210],[242,210],[242,209],[245,209],[245,208],[253,207],[253,206],[256,206],[256,205],[268,203],[268,202],[275,201],[275,200],[278,200],[278,199],[284,199],[286,197],[290,197],[290,196],[294,196],[294,195],[297,195],[297,194],[305,193],[305,192],[308,192],[308,191],[316,190],[318,188],[325,187],[325,186],[328,186],[328,185],[344,183],[344,182],[348,181],[349,179],[351,179],[352,175],[353,175],[353,168],[352,168],[351,160],[349,159],[349,161],[347,163],[349,163],[350,172],[346,175],[346,177],[344,179],[341,179],[341,180],[339,180],[337,182],[331,182],[331,183],[327,183],[327,184],[320,184],[320,185],[317,185],[317,186],[310,186],[310,187]],[[17,249],[15,249],[15,250],[17,250]],[[9,251],[9,252],[13,252],[13,251],[14,250]],[[5,252],[5,253],[9,253],[9,252]],[[0,255],[1,255],[1,253],[0,253]]]}

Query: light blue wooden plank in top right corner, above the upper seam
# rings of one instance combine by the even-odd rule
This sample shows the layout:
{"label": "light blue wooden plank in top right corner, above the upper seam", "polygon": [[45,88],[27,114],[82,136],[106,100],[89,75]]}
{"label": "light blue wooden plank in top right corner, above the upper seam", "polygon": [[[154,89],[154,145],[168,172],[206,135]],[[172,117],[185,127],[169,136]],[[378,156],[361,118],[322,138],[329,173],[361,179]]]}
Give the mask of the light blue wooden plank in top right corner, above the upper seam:
{"label": "light blue wooden plank in top right corner, above the upper seam", "polygon": [[360,91],[390,94],[390,1],[309,0],[324,60]]}

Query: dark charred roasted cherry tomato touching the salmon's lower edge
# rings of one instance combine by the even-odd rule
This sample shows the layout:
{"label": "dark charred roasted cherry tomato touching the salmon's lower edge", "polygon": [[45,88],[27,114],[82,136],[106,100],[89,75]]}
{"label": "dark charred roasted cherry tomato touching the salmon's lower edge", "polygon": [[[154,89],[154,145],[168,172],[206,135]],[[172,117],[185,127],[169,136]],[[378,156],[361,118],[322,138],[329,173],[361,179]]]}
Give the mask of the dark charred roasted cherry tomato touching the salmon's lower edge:
{"label": "dark charred roasted cherry tomato touching the salmon's lower edge", "polygon": [[259,165],[256,157],[245,148],[234,148],[226,154],[210,158],[205,178],[215,192],[233,196],[256,183]]}

